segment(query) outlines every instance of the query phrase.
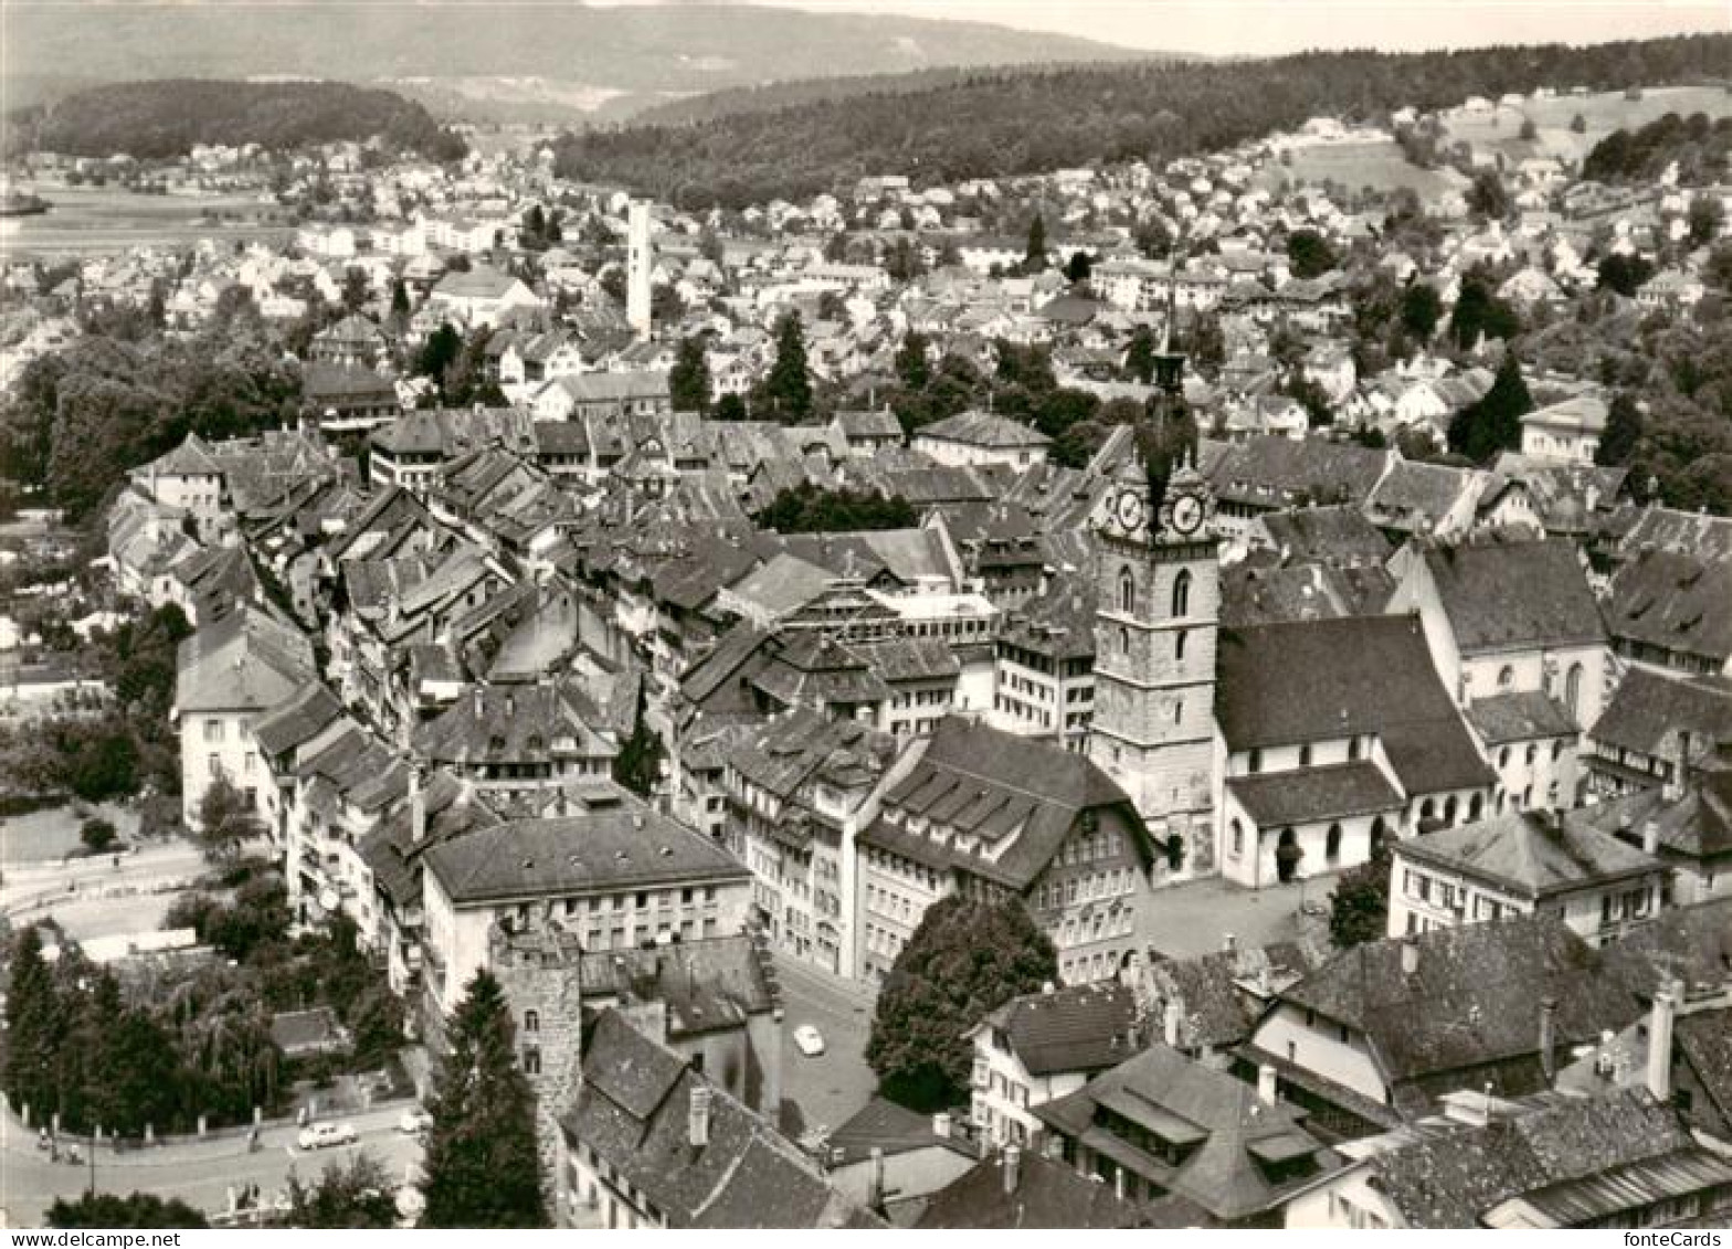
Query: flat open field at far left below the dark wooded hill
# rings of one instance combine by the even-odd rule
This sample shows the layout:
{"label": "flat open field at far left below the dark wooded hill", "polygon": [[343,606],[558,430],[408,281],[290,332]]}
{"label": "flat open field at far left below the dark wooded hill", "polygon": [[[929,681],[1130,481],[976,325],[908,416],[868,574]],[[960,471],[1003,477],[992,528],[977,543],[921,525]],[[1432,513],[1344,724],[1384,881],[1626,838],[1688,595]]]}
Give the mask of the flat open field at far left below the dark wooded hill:
{"label": "flat open field at far left below the dark wooded hill", "polygon": [[[262,220],[275,211],[253,196],[139,196],[92,187],[21,187],[48,199],[40,217],[0,218],[0,255],[52,256],[178,248],[199,239],[281,241],[289,227]],[[220,213],[220,220],[206,218]]]}

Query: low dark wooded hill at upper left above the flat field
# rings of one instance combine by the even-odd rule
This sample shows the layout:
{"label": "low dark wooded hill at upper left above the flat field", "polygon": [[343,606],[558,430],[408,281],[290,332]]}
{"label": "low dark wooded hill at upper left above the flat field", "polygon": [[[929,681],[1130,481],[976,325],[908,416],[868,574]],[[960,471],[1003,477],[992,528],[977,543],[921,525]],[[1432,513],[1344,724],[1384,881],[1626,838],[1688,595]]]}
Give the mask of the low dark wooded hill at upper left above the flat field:
{"label": "low dark wooded hill at upper left above the flat field", "polygon": [[464,144],[410,100],[348,83],[234,83],[173,78],[73,92],[7,118],[14,151],[140,159],[178,156],[196,144],[301,147],[381,135],[435,159]]}

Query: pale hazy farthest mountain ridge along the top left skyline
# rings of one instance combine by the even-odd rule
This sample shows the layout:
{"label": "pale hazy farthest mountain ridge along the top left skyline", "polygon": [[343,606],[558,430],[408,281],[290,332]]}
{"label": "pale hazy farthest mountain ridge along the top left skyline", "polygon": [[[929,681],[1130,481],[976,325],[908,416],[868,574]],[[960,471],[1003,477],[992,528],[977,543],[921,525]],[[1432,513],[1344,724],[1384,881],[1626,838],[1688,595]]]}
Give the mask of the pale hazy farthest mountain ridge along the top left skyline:
{"label": "pale hazy farthest mountain ridge along the top left skyline", "polygon": [[[1107,61],[1134,55],[1091,40],[984,23],[812,14],[753,5],[660,3],[260,3],[7,5],[5,68],[107,81],[312,76],[395,85],[426,99],[559,116],[788,78],[934,66]],[[499,80],[501,90],[476,80]],[[454,81],[468,80],[452,88]],[[537,80],[542,80],[537,83]]]}

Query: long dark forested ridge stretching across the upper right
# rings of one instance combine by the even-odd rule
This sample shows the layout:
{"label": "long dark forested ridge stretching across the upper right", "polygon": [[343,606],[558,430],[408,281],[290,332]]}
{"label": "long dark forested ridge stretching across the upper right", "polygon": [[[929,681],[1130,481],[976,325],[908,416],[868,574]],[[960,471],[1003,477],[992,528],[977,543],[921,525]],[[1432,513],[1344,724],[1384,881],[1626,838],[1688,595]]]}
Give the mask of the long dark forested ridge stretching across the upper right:
{"label": "long dark forested ridge stretching across the upper right", "polygon": [[565,137],[563,177],[679,203],[805,197],[869,173],[918,182],[1041,173],[1219,151],[1311,116],[1382,120],[1469,95],[1538,87],[1690,81],[1732,64],[1732,35],[1592,47],[1496,47],[1410,55],[1311,52],[1270,61],[1140,62],[982,71],[913,92],[819,99],[693,125]]}

